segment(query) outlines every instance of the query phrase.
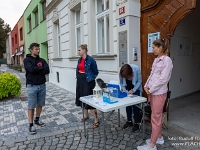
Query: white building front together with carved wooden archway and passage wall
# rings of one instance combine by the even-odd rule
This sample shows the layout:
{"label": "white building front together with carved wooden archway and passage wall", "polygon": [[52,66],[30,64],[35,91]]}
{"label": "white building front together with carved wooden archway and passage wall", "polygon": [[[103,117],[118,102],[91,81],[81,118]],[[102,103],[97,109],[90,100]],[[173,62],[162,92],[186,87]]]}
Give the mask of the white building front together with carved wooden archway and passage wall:
{"label": "white building front together with carved wooden archway and passage wall", "polygon": [[[149,35],[159,33],[159,38],[170,41],[174,64],[169,84],[172,98],[199,91],[200,84],[196,84],[200,83],[200,38],[196,34],[199,3],[196,0],[48,0],[50,82],[75,92],[77,48],[87,44],[88,54],[97,61],[98,78],[105,82],[118,80],[120,67],[134,63],[141,68],[144,85],[155,58],[149,49]],[[192,28],[186,30],[191,22],[194,22]]]}

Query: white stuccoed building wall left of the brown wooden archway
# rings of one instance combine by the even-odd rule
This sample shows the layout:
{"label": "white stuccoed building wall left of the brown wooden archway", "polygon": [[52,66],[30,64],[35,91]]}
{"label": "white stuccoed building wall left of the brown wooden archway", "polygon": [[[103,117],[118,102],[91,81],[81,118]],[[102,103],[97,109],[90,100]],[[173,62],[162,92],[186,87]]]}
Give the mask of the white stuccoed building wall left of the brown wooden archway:
{"label": "white stuccoed building wall left of the brown wooden archway", "polygon": [[105,82],[118,80],[125,63],[141,67],[140,0],[48,0],[45,12],[50,82],[75,92],[81,44]]}

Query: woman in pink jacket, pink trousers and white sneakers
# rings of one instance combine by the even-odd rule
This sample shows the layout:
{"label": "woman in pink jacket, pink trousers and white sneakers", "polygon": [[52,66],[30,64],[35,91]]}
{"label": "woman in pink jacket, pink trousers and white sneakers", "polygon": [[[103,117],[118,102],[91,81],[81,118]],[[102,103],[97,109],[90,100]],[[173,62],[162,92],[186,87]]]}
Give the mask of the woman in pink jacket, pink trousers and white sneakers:
{"label": "woman in pink jacket, pink trousers and white sneakers", "polygon": [[157,39],[153,42],[153,53],[155,58],[152,71],[144,86],[151,105],[151,139],[146,140],[146,145],[138,146],[138,150],[157,150],[156,144],[163,144],[162,136],[162,112],[167,98],[168,82],[172,73],[172,60],[169,53],[169,40]]}

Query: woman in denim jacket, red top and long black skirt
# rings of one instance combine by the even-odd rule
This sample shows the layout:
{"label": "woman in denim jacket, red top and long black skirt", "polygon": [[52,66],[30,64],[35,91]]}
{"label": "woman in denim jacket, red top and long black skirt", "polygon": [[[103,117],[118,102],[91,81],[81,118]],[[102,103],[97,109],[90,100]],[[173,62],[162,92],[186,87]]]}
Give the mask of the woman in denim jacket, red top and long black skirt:
{"label": "woman in denim jacket, red top and long black skirt", "polygon": [[[82,102],[79,100],[82,96],[88,96],[93,94],[93,89],[95,87],[95,78],[99,74],[96,61],[89,55],[87,55],[87,45],[82,44],[78,47],[78,54],[80,59],[78,60],[77,68],[76,68],[76,106],[82,107]],[[97,111],[94,107],[89,105],[84,105],[84,118],[81,119],[81,122],[87,120],[88,109],[90,109],[92,115],[94,116],[94,124],[92,128],[99,127],[99,120],[97,117]]]}

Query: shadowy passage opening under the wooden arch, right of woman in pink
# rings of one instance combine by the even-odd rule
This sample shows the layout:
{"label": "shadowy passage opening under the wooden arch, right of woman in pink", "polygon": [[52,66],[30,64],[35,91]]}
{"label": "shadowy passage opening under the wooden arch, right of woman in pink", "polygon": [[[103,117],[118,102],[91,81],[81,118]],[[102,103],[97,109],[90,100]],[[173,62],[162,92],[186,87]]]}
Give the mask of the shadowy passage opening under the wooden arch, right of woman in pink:
{"label": "shadowy passage opening under the wooden arch, right of woman in pink", "polygon": [[171,37],[173,73],[169,83],[172,98],[169,122],[200,135],[200,1],[184,17]]}

